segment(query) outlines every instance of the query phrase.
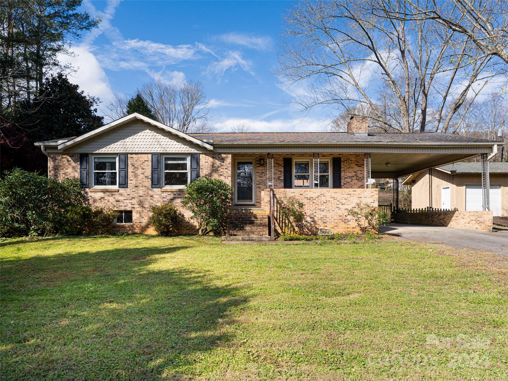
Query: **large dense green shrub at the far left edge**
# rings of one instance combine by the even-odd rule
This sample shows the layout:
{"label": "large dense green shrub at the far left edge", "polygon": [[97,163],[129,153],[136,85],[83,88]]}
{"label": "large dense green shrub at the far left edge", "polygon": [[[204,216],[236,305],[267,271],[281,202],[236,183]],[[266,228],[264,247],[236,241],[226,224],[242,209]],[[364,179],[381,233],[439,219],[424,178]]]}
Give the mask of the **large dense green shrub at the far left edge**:
{"label": "large dense green shrub at the far left edge", "polygon": [[79,179],[57,182],[16,168],[0,179],[0,236],[59,234],[67,208],[85,201]]}

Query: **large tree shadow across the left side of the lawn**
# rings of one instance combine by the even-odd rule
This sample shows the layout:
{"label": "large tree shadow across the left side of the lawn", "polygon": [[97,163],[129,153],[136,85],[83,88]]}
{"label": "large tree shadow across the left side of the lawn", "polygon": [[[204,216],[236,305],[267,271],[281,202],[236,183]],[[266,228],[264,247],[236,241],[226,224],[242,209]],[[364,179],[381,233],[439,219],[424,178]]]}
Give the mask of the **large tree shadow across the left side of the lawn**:
{"label": "large tree shadow across the left side of the lawn", "polygon": [[178,266],[186,248],[4,261],[4,376],[150,379],[188,372],[196,356],[227,345],[236,332],[218,319],[248,297],[213,273]]}

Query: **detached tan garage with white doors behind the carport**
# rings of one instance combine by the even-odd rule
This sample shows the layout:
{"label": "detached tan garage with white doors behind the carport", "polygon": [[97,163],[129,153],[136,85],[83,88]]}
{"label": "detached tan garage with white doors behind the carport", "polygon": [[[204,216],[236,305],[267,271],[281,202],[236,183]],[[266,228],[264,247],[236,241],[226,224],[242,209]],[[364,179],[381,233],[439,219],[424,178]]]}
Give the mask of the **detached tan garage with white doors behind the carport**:
{"label": "detached tan garage with white doors behind the carport", "polygon": [[[490,210],[508,217],[508,163],[489,163]],[[409,176],[412,208],[429,206],[429,172]],[[432,206],[451,210],[482,210],[481,163],[455,163],[432,170]]]}

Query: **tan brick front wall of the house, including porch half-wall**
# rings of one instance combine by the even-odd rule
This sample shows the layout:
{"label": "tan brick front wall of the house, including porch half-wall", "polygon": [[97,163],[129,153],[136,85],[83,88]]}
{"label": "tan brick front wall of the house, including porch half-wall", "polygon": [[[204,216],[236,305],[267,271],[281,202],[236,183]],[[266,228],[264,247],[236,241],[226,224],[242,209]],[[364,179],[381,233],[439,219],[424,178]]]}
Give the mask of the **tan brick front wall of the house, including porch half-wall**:
{"label": "tan brick front wall of the house, including porch half-wall", "polygon": [[[79,153],[55,154],[54,161],[49,161],[49,176],[61,181],[63,178],[79,178]],[[255,206],[263,205],[263,189],[267,186],[267,156],[266,154],[223,154],[202,153],[200,156],[200,175],[219,178],[234,186],[235,158],[253,158],[256,161],[256,200]],[[275,154],[274,155],[274,187],[283,187],[283,158],[311,158],[311,154]],[[324,153],[320,158],[330,160],[332,157],[341,157],[342,189],[277,189],[280,192],[295,191],[308,203],[308,228],[311,225],[332,227],[334,231],[355,231],[354,222],[338,218],[357,201],[370,202],[377,205],[377,193],[374,189],[364,187],[364,160],[363,154],[335,154]],[[265,163],[260,166],[260,158]],[[150,154],[129,153],[129,187],[118,189],[87,189],[89,202],[94,206],[113,207],[115,210],[132,210],[133,223],[115,225],[116,232],[153,233],[149,226],[149,208],[154,204],[171,202],[182,212],[180,233],[196,233],[196,226],[190,220],[190,213],[180,201],[184,196],[183,190],[169,190],[165,188],[151,188],[151,157]],[[331,169],[330,169],[331,171]],[[312,181],[312,179],[311,179]],[[362,189],[353,189],[362,188]],[[375,193],[375,198],[373,197]],[[369,194],[370,196],[365,196]],[[265,210],[269,210],[269,204]],[[326,205],[326,206],[325,206]],[[263,205],[264,207],[264,205]],[[262,214],[257,212],[257,214]],[[256,218],[258,218],[256,216]],[[259,217],[261,218],[261,217]],[[263,217],[264,218],[264,217]],[[339,221],[340,219],[340,221]],[[332,221],[332,226],[328,226]],[[319,228],[319,227],[318,227]],[[240,234],[240,233],[238,233]]]}

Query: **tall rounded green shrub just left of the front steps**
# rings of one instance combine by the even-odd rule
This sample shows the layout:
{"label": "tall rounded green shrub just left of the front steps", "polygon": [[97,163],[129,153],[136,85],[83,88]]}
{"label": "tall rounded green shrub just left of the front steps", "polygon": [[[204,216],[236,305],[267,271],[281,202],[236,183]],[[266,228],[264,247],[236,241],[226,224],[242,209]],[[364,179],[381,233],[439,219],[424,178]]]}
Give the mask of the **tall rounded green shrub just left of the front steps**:
{"label": "tall rounded green shrub just left of the front steps", "polygon": [[200,177],[187,184],[182,205],[193,213],[198,224],[198,234],[218,234],[228,221],[229,207],[233,201],[233,188],[223,180]]}

